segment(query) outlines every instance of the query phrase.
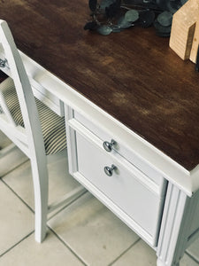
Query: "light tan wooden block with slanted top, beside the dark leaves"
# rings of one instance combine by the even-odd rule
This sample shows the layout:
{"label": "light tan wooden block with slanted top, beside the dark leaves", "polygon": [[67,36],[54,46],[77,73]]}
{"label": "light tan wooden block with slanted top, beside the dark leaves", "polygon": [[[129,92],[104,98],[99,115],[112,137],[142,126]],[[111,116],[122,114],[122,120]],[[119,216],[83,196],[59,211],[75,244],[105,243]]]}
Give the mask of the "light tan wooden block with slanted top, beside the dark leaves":
{"label": "light tan wooden block with slanted top, beside the dark leaves", "polygon": [[189,59],[198,18],[199,0],[188,0],[172,18],[170,47],[181,59]]}

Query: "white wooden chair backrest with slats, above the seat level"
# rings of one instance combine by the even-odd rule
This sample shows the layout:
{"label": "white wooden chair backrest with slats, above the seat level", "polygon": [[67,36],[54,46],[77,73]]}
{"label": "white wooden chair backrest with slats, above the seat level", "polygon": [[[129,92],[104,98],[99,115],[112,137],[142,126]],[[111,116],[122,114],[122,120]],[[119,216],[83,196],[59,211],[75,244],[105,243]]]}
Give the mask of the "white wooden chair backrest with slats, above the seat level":
{"label": "white wooden chair backrest with slats, above the seat level", "polygon": [[[19,51],[11,35],[11,30],[4,20],[0,20],[0,44],[4,49],[6,64],[8,64],[10,68],[11,78],[15,85],[25,126],[24,129],[19,125],[16,125],[15,121],[11,117],[11,113],[9,112],[8,107],[6,106],[4,95],[0,93],[0,106],[4,111],[7,123],[10,124],[11,129],[13,129],[13,132],[11,132],[13,139],[11,140],[15,142],[16,145],[23,144],[24,147],[22,147],[22,150],[27,153],[28,157],[43,157],[43,155],[45,154],[45,148],[42,138],[42,128],[34,100],[33,91],[22,59],[19,55]],[[37,151],[39,151],[39,154]],[[39,158],[37,160],[39,160]]]}

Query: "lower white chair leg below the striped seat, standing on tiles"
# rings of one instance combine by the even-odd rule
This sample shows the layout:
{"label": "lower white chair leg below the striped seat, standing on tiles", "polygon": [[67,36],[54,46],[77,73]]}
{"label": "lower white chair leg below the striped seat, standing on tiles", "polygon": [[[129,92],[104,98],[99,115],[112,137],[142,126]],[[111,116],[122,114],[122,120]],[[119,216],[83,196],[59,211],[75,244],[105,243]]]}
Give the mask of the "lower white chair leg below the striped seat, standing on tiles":
{"label": "lower white chair leg below the striped seat, standing on tiles", "polygon": [[47,230],[49,178],[47,161],[31,160],[34,181],[35,235],[37,242],[42,243]]}

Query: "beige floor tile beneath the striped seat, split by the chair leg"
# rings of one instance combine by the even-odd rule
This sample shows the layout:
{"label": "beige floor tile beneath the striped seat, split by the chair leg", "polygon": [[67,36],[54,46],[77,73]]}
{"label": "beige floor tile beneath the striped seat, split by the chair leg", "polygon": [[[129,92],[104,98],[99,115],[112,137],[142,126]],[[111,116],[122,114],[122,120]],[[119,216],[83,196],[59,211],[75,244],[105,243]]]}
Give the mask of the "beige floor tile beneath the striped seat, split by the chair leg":
{"label": "beige floor tile beneath the striped seat, split by the chair leg", "polygon": [[[57,200],[67,192],[71,192],[79,184],[68,173],[65,157],[49,163],[50,200]],[[4,182],[11,186],[21,199],[34,209],[34,189],[30,162],[27,161],[13,172],[4,176]]]}

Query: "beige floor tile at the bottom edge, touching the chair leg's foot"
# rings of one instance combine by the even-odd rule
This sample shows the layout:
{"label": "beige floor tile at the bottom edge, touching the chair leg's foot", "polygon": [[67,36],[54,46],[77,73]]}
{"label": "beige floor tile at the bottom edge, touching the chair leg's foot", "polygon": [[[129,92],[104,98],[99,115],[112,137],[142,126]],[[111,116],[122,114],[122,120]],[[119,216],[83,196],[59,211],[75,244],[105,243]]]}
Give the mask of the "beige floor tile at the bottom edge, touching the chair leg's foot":
{"label": "beige floor tile at the bottom edge, touching the chair leg's foot", "polygon": [[49,232],[42,244],[34,241],[32,234],[11,251],[0,257],[0,266],[81,266],[78,258]]}

